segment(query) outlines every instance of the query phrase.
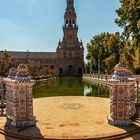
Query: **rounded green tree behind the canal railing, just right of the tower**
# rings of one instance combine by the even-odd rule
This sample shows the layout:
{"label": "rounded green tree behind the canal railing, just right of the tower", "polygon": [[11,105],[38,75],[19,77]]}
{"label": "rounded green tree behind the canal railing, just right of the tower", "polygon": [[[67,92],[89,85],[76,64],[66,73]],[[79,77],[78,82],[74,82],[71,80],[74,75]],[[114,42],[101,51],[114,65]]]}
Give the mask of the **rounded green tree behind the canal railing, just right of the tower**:
{"label": "rounded green tree behind the canal railing, just right of the tower", "polygon": [[[94,72],[111,73],[119,62],[122,40],[119,33],[101,33],[87,44],[87,59]],[[100,69],[100,70],[99,70]]]}

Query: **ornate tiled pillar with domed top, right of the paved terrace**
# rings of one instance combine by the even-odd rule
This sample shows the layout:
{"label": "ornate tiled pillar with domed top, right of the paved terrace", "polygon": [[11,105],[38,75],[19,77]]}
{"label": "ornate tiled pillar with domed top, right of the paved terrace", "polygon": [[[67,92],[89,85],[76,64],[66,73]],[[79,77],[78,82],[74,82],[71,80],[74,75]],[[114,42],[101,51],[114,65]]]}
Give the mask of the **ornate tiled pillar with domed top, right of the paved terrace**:
{"label": "ornate tiled pillar with domed top, right of the paved terrace", "polygon": [[122,64],[115,67],[115,72],[110,83],[110,116],[109,124],[130,125],[131,118],[136,113],[134,81],[129,80],[132,76],[130,70]]}

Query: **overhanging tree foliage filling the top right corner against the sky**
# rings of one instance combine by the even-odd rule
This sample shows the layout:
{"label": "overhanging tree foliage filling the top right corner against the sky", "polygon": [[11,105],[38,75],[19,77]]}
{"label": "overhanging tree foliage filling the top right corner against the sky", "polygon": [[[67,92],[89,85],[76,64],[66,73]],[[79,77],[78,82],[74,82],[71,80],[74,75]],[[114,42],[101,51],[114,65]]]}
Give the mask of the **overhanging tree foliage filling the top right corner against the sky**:
{"label": "overhanging tree foliage filling the top right corner against the sky", "polygon": [[[120,3],[115,22],[123,28],[122,36],[131,39],[132,46],[137,48],[140,54],[140,0],[120,0]],[[140,65],[140,55],[137,62]]]}

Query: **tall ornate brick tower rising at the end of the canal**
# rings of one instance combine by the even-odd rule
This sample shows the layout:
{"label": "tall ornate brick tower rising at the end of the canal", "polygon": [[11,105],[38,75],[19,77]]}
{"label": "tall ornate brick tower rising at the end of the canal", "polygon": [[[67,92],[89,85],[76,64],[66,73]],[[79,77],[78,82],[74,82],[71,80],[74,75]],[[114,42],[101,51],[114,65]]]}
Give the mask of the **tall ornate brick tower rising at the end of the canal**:
{"label": "tall ornate brick tower rising at the end of the canal", "polygon": [[63,76],[81,76],[84,71],[84,48],[77,37],[77,16],[74,0],[67,0],[63,26],[64,37],[57,47],[59,74]]}

